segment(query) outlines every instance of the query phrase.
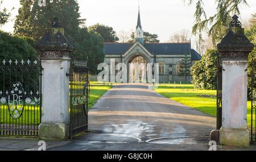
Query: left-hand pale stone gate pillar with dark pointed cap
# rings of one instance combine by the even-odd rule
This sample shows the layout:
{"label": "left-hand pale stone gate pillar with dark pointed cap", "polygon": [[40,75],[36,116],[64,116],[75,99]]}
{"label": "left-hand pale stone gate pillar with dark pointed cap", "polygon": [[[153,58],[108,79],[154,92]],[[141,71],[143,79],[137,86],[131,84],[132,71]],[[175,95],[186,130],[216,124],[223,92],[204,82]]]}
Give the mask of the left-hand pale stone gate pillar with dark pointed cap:
{"label": "left-hand pale stone gate pillar with dark pointed cap", "polygon": [[46,35],[35,45],[43,68],[40,139],[69,138],[69,67],[73,46],[55,18]]}

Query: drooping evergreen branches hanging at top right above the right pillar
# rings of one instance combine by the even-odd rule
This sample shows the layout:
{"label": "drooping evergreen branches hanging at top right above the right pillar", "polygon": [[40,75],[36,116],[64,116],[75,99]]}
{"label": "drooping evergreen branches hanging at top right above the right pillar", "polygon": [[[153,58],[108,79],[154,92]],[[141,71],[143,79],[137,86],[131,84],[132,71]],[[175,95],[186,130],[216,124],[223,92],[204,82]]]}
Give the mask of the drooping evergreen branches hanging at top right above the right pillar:
{"label": "drooping evergreen branches hanging at top right above the right pillar", "polygon": [[185,0],[189,5],[196,3],[195,24],[192,28],[192,34],[199,36],[202,41],[203,32],[207,31],[212,36],[212,42],[215,46],[225,35],[226,27],[229,26],[232,14],[240,14],[241,5],[247,5],[246,0],[215,0],[216,13],[208,16],[204,9],[204,2],[208,0]]}

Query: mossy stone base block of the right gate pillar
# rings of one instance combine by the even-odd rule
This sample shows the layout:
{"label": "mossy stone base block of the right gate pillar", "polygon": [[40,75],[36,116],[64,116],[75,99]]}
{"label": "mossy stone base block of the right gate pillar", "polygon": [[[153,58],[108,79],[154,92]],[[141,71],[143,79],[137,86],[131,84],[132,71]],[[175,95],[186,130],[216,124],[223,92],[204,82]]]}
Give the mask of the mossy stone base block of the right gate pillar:
{"label": "mossy stone base block of the right gate pillar", "polygon": [[247,128],[221,128],[220,144],[228,146],[249,146],[250,132]]}

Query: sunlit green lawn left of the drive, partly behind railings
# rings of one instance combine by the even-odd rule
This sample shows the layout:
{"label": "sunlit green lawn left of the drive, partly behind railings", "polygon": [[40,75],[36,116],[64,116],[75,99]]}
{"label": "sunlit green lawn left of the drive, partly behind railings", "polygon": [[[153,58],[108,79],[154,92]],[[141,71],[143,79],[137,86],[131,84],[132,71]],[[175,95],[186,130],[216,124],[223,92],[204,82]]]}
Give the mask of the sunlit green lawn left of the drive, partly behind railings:
{"label": "sunlit green lawn left of the drive, partly behind railings", "polygon": [[[108,85],[92,85],[90,86],[90,98],[89,98],[89,109],[92,108],[94,103],[104,94],[106,93],[112,86]],[[42,108],[43,111],[43,108]],[[1,123],[9,124],[9,123],[14,123],[14,124],[26,124],[26,125],[35,125],[40,124],[40,113],[39,113],[39,107],[37,106],[29,106],[24,109],[22,117],[19,119],[15,120],[10,117],[9,111],[7,106],[1,105],[0,107],[0,115],[1,115]],[[25,123],[26,122],[26,123]]]}

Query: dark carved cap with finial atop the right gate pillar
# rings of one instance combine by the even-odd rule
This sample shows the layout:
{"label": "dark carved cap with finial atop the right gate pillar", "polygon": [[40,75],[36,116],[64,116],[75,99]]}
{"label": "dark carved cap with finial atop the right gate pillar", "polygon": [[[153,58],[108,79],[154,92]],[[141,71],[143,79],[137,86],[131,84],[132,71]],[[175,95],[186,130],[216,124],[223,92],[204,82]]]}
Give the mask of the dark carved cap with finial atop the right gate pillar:
{"label": "dark carved cap with finial atop the right gate pillar", "polygon": [[249,53],[254,48],[254,44],[246,38],[245,30],[237,18],[236,15],[233,16],[226,35],[217,44],[218,52],[222,55],[223,60],[247,60]]}

